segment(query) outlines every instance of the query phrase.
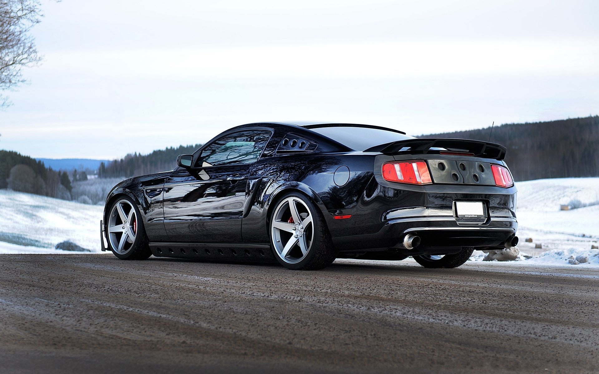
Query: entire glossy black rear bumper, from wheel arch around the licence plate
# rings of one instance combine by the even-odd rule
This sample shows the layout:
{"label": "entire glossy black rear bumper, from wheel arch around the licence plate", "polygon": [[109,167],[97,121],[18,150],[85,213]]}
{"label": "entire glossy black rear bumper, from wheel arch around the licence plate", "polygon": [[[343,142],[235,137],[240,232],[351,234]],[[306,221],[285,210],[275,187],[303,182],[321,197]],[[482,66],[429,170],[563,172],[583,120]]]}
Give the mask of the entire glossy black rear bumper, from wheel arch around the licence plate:
{"label": "entire glossy black rear bumper, from wheel arch around the licence plate", "polygon": [[[482,202],[485,214],[478,218],[458,217],[456,203],[460,201]],[[352,217],[335,220],[334,215]],[[518,229],[516,187],[416,186],[388,182],[381,175],[374,175],[355,206],[327,211],[325,218],[332,241],[340,251],[399,248],[410,256],[447,254],[461,247],[503,248]],[[404,236],[408,234],[420,238],[420,244],[413,250],[403,247]]]}

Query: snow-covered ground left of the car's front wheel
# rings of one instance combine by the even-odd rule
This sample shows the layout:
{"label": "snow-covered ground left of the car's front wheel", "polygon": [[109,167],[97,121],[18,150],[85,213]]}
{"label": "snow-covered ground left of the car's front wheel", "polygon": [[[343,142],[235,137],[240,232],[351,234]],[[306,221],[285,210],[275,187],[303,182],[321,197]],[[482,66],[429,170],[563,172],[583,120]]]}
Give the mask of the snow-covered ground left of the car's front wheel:
{"label": "snow-covered ground left of the car's front wheel", "polygon": [[66,253],[54,249],[66,240],[100,252],[99,222],[103,209],[0,190],[0,253]]}

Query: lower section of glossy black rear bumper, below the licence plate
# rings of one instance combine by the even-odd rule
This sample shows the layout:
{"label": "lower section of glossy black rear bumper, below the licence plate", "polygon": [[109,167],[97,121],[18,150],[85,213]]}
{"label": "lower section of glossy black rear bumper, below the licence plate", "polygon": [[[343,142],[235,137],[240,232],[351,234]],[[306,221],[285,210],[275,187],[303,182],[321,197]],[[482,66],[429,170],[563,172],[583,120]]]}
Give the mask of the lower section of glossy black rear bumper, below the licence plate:
{"label": "lower section of glossy black rear bumper, below the licence plate", "polygon": [[[461,247],[503,247],[515,235],[515,218],[491,217],[482,225],[461,224],[454,217],[412,217],[389,220],[377,233],[332,238],[340,251],[384,251],[399,248],[405,254],[443,253]],[[403,247],[406,235],[420,237],[412,250]]]}

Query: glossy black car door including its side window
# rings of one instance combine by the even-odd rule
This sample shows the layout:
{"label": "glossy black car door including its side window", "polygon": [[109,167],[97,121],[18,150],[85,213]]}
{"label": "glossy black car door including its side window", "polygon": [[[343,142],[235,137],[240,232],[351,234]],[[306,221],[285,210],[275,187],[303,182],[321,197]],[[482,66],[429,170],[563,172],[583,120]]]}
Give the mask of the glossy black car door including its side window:
{"label": "glossy black car door including its side window", "polygon": [[241,242],[241,220],[252,164],[271,132],[226,133],[200,148],[193,167],[177,168],[164,184],[164,225],[174,242]]}

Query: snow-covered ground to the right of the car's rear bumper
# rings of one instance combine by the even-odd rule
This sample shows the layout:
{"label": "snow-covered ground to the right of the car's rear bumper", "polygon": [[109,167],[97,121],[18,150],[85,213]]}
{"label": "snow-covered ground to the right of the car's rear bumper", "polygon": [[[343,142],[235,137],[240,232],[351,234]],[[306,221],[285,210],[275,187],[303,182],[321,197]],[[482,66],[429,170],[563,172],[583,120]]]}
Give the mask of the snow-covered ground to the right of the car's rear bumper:
{"label": "snow-covered ground to the right of the car's rear bumper", "polygon": [[[599,267],[599,250],[591,249],[599,245],[599,178],[524,181],[516,182],[516,187],[521,256],[515,263],[572,266],[577,257],[586,256],[579,266]],[[560,205],[580,208],[561,211]],[[533,241],[526,242],[527,238]],[[476,251],[471,260],[483,257]]]}

